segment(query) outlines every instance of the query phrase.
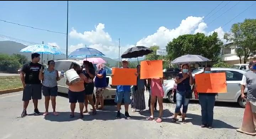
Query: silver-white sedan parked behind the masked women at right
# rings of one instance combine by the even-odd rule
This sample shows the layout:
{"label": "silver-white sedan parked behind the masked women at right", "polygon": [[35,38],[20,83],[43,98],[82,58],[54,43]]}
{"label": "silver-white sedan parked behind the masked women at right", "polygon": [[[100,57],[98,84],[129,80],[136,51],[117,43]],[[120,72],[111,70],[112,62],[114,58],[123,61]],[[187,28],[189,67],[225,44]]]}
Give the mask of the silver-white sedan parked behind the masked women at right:
{"label": "silver-white sedan parked behind the masked women at right", "polygon": [[[244,70],[239,69],[231,69],[231,68],[211,68],[212,73],[226,73],[226,82],[227,85],[227,93],[218,93],[216,95],[217,102],[237,102],[243,108],[245,107],[245,100],[241,99],[241,85],[240,82],[242,80],[242,76],[246,73]],[[196,74],[203,73],[203,69],[195,70],[192,73],[194,77]],[[172,89],[174,87],[174,80],[167,80],[163,84],[164,89],[164,98],[169,99],[171,103],[173,103],[173,96],[172,96]],[[192,86],[191,86],[192,87]],[[245,93],[247,93],[247,88],[245,88]],[[198,100],[195,99],[194,93],[192,93],[191,100]]]}

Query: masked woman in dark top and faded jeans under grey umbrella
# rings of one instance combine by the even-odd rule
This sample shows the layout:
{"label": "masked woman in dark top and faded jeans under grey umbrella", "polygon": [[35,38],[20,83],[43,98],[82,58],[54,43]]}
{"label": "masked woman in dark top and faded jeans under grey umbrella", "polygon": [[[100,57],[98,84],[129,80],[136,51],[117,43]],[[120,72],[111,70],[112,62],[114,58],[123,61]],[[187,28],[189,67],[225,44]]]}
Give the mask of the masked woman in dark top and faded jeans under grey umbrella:
{"label": "masked woman in dark top and faded jeans under grey umbrella", "polygon": [[180,113],[180,108],[183,105],[182,109],[182,122],[185,122],[185,117],[188,109],[188,103],[190,100],[191,86],[194,84],[194,79],[192,77],[191,72],[189,72],[188,64],[183,64],[181,66],[182,73],[178,73],[175,78],[175,83],[177,83],[177,92],[176,92],[176,108],[174,118],[172,118],[172,122],[177,121],[177,115]]}

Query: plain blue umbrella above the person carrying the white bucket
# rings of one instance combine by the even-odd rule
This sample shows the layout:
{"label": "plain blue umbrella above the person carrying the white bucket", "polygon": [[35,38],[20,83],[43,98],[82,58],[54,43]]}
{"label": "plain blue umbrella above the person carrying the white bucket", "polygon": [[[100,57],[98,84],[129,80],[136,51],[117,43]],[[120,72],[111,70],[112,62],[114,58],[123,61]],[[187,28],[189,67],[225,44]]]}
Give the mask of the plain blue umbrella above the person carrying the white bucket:
{"label": "plain blue umbrella above the person carrying the white bucket", "polygon": [[88,47],[76,49],[75,51],[69,54],[69,57],[80,57],[80,58],[86,57],[87,58],[87,56],[105,56],[105,54],[103,54],[102,52],[94,48],[88,48]]}

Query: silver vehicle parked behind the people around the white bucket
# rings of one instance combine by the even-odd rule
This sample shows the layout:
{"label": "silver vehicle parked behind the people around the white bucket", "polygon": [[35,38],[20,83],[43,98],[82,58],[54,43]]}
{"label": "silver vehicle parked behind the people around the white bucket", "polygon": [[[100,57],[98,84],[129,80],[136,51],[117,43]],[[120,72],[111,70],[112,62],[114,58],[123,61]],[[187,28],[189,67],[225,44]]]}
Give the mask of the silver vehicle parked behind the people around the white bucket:
{"label": "silver vehicle parked behind the people around the white bucket", "polygon": [[[59,75],[60,75],[60,71],[64,70],[67,71],[69,70],[71,67],[73,67],[73,64],[78,64],[80,67],[83,64],[82,60],[79,59],[57,59],[55,60],[55,69],[59,71]],[[94,64],[94,68],[96,71],[96,64]],[[111,85],[112,80],[110,75],[112,74],[112,70],[108,67],[105,66],[105,70],[106,70],[106,74],[107,74],[107,88],[104,91],[104,99],[114,99],[116,97],[116,88],[117,86],[113,86]],[[95,93],[95,89],[94,88],[94,93]],[[68,85],[66,85],[66,77],[64,75],[64,78],[60,79],[58,81],[58,92],[61,93],[68,93]],[[95,97],[94,97],[95,99]]]}

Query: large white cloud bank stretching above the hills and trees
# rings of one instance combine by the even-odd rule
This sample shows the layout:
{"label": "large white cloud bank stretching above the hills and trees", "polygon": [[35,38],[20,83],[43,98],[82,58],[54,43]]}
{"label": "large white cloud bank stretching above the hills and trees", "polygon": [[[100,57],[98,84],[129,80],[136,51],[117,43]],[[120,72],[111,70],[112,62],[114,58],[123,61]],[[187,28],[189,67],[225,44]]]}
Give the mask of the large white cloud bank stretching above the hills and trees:
{"label": "large white cloud bank stretching above the hills and trees", "polygon": [[[219,38],[223,38],[224,31],[221,27],[215,29],[214,31],[206,31],[207,24],[203,22],[204,17],[187,17],[183,19],[180,25],[177,28],[167,29],[162,26],[154,34],[148,35],[143,39],[139,40],[136,43],[136,46],[152,46],[159,45],[161,48],[165,48],[169,41],[172,39],[184,35],[184,34],[195,34],[195,33],[204,33],[206,35],[212,34],[214,31],[218,33]],[[118,42],[112,41],[110,34],[105,32],[105,24],[99,23],[95,30],[84,31],[84,33],[78,33],[74,28],[69,33],[69,36],[74,39],[81,39],[84,41],[84,44],[90,44],[88,47],[95,48],[110,58],[118,58]],[[225,42],[225,40],[222,40]],[[69,53],[85,47],[83,43],[77,45],[71,45],[69,47]],[[124,45],[120,49],[120,55],[126,51],[128,48],[133,47],[134,45]]]}

